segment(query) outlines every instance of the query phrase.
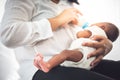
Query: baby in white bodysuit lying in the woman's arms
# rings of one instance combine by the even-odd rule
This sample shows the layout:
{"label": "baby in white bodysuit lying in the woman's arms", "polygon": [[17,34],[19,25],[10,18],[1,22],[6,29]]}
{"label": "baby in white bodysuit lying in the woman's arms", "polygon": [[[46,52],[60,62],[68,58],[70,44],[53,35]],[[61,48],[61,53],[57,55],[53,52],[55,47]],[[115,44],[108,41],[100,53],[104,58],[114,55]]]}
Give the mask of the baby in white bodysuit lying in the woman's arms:
{"label": "baby in white bodysuit lying in the woman's arms", "polygon": [[91,62],[95,59],[95,57],[89,58],[88,54],[93,52],[95,48],[82,46],[82,43],[88,41],[95,42],[90,39],[94,35],[105,36],[114,42],[119,36],[119,30],[114,24],[110,22],[98,22],[91,24],[90,26],[85,24],[83,27],[86,28],[81,29],[79,26],[68,28],[68,30],[72,30],[76,36],[76,39],[73,40],[68,50],[80,51],[81,53],[78,54],[78,56],[81,58],[80,61],[70,61],[69,58],[66,58],[66,56],[70,54],[61,52],[60,54],[54,55],[50,60],[46,62],[43,60],[44,57],[42,54],[38,53],[34,59],[34,65],[43,72],[49,72],[57,65],[66,67],[78,67],[90,70],[93,67],[91,66]]}

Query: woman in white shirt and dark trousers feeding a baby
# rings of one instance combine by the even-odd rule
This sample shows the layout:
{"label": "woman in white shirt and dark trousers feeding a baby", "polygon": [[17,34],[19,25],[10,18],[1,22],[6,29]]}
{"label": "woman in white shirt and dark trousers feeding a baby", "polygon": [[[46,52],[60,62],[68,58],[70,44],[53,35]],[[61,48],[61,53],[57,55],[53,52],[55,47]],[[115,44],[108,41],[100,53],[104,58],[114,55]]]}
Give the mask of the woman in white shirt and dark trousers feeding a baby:
{"label": "woman in white shirt and dark trousers feeding a baby", "polygon": [[[1,42],[14,48],[20,64],[20,80],[112,80],[91,71],[57,66],[49,73],[43,73],[33,65],[37,51],[47,61],[60,52],[71,53],[68,57],[78,57],[75,50],[66,50],[72,40],[63,25],[72,22],[77,24],[77,14],[73,8],[76,0],[7,0],[1,26]],[[96,56],[93,65],[101,61],[112,48],[111,42],[101,36],[94,36],[97,43],[84,43],[96,51],[89,57]],[[72,59],[71,59],[72,60]],[[38,70],[38,71],[37,71]]]}

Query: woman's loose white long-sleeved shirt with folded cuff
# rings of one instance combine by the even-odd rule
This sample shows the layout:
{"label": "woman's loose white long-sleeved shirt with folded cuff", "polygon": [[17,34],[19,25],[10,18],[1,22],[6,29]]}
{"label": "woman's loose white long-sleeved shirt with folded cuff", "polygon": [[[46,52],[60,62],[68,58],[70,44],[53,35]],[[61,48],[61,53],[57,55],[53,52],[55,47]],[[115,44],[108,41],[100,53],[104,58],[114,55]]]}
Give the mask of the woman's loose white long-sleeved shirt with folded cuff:
{"label": "woman's loose white long-sleeved shirt with folded cuff", "polygon": [[21,80],[31,80],[37,68],[33,65],[36,46],[47,61],[53,55],[69,47],[72,38],[64,28],[52,32],[48,18],[58,15],[72,4],[60,0],[8,0],[0,28],[1,41],[15,48],[20,64]]}

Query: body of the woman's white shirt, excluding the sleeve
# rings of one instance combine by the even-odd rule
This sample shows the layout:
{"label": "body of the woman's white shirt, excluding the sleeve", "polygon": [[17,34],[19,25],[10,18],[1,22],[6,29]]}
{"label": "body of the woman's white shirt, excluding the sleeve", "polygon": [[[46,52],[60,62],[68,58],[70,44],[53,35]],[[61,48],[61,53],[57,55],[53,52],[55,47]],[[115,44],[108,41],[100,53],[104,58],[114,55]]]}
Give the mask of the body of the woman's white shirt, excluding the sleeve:
{"label": "body of the woman's white shirt, excluding the sleeve", "polygon": [[[60,0],[58,4],[51,0],[33,0],[35,11],[31,21],[37,21],[43,18],[51,18],[62,12],[64,8],[71,7],[66,3],[67,0]],[[53,32],[51,38],[38,41],[35,45],[37,51],[44,56],[44,60],[48,60],[53,55],[67,49],[72,42],[71,37],[64,28],[59,28]],[[21,80],[29,80],[36,72],[37,68],[33,65],[33,59],[36,54],[34,46],[24,46],[15,49],[16,57],[20,63]],[[29,68],[29,69],[28,69]],[[26,70],[26,71],[25,71]]]}

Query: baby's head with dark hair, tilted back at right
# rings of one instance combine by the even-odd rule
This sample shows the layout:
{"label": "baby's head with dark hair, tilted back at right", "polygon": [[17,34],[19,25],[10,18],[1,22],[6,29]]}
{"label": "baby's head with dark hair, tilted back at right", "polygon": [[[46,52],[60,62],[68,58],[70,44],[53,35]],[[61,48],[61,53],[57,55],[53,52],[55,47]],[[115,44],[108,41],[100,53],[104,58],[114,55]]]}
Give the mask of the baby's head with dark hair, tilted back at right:
{"label": "baby's head with dark hair, tilted back at right", "polygon": [[110,39],[112,42],[114,42],[119,36],[119,29],[116,25],[110,22],[98,22],[92,24],[91,26],[98,26],[102,28],[105,31],[108,39]]}

